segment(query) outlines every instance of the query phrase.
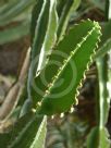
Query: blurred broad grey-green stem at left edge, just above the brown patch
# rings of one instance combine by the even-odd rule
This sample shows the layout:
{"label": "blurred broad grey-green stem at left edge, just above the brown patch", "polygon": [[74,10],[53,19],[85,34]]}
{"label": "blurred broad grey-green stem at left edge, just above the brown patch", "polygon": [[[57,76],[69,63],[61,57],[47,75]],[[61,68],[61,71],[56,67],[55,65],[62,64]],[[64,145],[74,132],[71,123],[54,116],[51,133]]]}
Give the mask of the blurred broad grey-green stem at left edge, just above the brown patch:
{"label": "blurred broad grey-green stem at left edge, just above the brown patch", "polygon": [[11,42],[20,39],[23,36],[29,34],[29,21],[24,21],[18,23],[14,27],[8,27],[3,30],[0,30],[0,45]]}

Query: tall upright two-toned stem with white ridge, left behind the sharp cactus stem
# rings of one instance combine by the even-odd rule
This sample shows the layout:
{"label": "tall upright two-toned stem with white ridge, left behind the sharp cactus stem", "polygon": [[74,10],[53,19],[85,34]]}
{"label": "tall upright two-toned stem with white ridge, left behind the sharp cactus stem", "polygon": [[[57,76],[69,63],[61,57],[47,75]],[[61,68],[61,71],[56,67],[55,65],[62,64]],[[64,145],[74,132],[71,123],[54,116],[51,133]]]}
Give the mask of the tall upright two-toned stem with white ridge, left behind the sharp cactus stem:
{"label": "tall upright two-toned stem with white ridge, left behind the sharp cactus stem", "polygon": [[[46,63],[46,55],[52,48],[57,39],[57,25],[58,25],[58,16],[55,11],[55,0],[44,1],[44,4],[38,3],[34,8],[33,21],[32,21],[32,63],[29,67],[28,75],[28,96],[30,98],[30,83],[33,78],[36,76],[36,71],[40,70]],[[38,11],[38,7],[41,7],[40,14],[38,15],[35,11]],[[37,24],[35,22],[37,18]],[[38,58],[39,55],[39,58]],[[40,64],[39,64],[40,60]],[[34,63],[35,62],[35,63]],[[35,66],[35,67],[34,67]]]}

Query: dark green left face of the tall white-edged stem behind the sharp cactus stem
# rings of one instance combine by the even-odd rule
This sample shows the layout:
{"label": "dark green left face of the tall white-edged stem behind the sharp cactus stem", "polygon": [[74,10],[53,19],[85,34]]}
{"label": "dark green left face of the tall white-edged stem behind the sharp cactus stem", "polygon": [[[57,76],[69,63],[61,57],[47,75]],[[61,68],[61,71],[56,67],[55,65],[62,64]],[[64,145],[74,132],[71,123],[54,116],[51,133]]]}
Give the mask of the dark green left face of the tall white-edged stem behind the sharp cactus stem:
{"label": "dark green left face of the tall white-edged stem behind the sharp cactus stem", "polygon": [[[33,14],[35,15],[37,11],[37,8],[40,3],[37,3],[34,8]],[[45,40],[46,32],[48,28],[48,20],[49,20],[49,9],[50,9],[50,0],[44,0],[44,3],[41,1],[41,10],[39,12],[39,15],[36,14],[36,16],[33,16],[32,21],[32,54],[30,54],[30,66],[28,72],[28,82],[27,82],[27,91],[28,91],[28,98],[30,99],[30,83],[33,78],[36,76],[37,67],[38,67],[38,55],[40,53],[42,42]],[[35,18],[36,22],[34,21]],[[33,61],[35,62],[35,67],[33,67]]]}

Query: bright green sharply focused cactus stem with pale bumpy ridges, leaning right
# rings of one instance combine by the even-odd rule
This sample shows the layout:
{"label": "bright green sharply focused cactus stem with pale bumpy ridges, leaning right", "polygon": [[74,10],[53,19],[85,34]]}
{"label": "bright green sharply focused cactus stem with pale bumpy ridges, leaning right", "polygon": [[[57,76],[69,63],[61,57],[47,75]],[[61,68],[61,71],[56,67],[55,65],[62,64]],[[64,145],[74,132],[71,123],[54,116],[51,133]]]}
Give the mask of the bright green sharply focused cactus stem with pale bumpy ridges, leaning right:
{"label": "bright green sharply focused cactus stem with pale bumpy ridges, leaning right", "polygon": [[100,27],[86,21],[75,25],[55,47],[47,66],[32,82],[34,103],[41,102],[40,113],[67,111],[76,103],[81,81],[94,54]]}

